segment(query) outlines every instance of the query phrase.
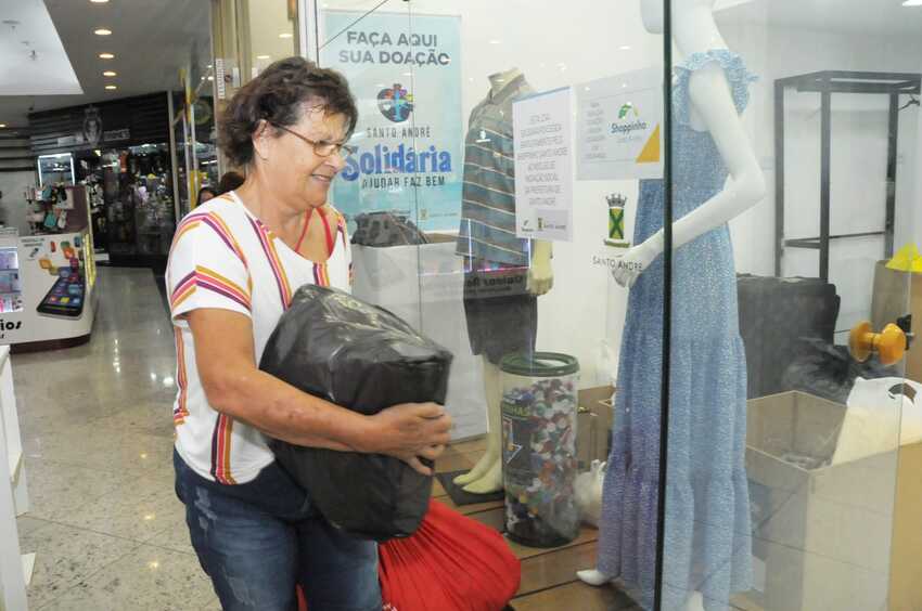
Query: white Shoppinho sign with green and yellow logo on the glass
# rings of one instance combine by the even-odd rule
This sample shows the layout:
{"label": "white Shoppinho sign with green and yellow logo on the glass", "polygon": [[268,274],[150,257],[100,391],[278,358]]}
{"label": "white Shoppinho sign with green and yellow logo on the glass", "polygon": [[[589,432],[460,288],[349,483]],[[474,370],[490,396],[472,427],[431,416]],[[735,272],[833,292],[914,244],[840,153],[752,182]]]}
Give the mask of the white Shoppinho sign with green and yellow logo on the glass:
{"label": "white Shoppinho sign with green and yellow logo on the glass", "polygon": [[663,178],[663,74],[648,68],[580,84],[579,180]]}

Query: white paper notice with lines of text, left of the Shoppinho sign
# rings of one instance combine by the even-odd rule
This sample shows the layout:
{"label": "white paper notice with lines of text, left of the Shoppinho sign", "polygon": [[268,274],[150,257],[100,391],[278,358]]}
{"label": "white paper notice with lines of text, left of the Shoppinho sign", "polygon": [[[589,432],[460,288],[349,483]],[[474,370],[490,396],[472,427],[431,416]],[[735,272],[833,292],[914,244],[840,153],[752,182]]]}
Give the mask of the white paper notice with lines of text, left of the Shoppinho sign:
{"label": "white paper notice with lines of text, left of the Shoppinho sign", "polygon": [[515,234],[573,240],[573,117],[569,88],[512,105]]}

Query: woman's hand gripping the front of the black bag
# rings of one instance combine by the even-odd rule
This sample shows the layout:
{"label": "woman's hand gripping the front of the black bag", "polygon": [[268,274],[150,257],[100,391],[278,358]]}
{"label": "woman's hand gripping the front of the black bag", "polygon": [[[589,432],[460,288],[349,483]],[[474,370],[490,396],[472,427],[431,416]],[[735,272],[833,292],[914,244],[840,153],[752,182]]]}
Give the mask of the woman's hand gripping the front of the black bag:
{"label": "woman's hand gripping the front of the black bag", "polygon": [[451,416],[436,403],[405,403],[369,416],[374,422],[368,452],[400,458],[424,476],[432,469],[420,458],[435,460],[451,440]]}

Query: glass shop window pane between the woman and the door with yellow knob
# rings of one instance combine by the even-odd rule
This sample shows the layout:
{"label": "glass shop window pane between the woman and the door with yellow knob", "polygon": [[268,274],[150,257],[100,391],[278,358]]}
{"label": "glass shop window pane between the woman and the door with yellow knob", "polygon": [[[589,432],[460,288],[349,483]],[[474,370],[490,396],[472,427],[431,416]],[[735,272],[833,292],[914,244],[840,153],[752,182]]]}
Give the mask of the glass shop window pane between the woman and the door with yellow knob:
{"label": "glass shop window pane between the woman and the door with yellow knob", "polygon": [[[635,217],[663,224],[663,39],[643,30],[639,5],[591,1],[560,20],[550,1],[377,4],[324,2],[318,17],[320,62],[360,105],[359,151],[334,186],[354,292],[454,355],[446,401],[459,443],[441,485],[458,499],[466,486],[520,554],[552,548],[554,574],[594,571],[598,548],[586,578],[622,580],[614,597],[571,584],[563,600],[629,608],[629,592],[651,607],[662,263],[630,307],[612,270],[632,232],[650,233]],[[661,194],[645,210],[642,188]],[[618,380],[628,392],[613,410],[603,402]],[[574,480],[609,458],[613,420],[600,535],[580,525]],[[559,551],[577,536],[578,554]],[[513,604],[542,608],[541,590],[561,584],[535,560],[523,571]]]}

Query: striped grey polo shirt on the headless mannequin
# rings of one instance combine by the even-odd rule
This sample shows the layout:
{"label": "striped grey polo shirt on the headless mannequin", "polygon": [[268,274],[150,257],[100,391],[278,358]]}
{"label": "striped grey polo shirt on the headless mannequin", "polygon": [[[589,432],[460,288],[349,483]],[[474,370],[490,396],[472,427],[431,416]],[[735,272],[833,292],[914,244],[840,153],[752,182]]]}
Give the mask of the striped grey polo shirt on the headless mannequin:
{"label": "striped grey polo shirt on the headless mannequin", "polygon": [[530,243],[515,237],[512,103],[532,93],[520,75],[471,113],[464,141],[464,186],[458,253],[504,265],[528,265]]}

